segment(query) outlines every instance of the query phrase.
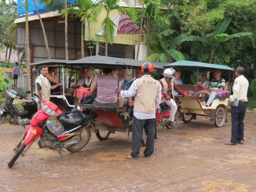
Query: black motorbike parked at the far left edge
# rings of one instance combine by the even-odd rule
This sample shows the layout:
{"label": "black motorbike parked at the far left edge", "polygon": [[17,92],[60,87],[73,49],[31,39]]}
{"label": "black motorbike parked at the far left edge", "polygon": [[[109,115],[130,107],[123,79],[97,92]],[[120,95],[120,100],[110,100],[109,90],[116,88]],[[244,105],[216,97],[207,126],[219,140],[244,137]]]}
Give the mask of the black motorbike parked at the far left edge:
{"label": "black motorbike parked at the far left edge", "polygon": [[[5,82],[9,83],[7,79]],[[25,126],[30,124],[30,119],[32,119],[34,113],[37,112],[37,103],[34,99],[28,100],[26,102],[22,102],[23,109],[17,110],[13,106],[14,99],[27,99],[20,95],[17,91],[13,89],[9,89],[8,86],[3,86],[5,92],[8,94],[8,98],[4,100],[3,105],[0,107],[0,125],[2,124],[3,120],[9,114],[10,119],[9,123],[11,125],[20,125]],[[30,91],[26,91],[26,93],[31,93]]]}

